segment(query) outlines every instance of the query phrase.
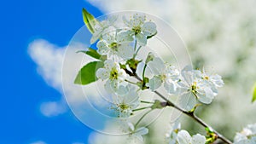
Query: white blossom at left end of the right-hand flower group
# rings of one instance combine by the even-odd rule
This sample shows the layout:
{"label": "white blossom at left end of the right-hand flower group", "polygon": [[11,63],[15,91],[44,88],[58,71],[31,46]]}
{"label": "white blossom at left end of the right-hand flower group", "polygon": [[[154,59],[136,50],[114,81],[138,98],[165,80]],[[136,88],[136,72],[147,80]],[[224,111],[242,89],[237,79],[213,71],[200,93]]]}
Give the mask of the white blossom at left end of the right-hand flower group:
{"label": "white blossom at left end of the right-hand flower group", "polygon": [[179,72],[175,66],[165,64],[160,58],[155,57],[148,62],[148,67],[154,74],[154,77],[150,78],[148,84],[146,84],[149,89],[154,91],[161,84],[164,84],[168,93],[175,94],[177,92]]}

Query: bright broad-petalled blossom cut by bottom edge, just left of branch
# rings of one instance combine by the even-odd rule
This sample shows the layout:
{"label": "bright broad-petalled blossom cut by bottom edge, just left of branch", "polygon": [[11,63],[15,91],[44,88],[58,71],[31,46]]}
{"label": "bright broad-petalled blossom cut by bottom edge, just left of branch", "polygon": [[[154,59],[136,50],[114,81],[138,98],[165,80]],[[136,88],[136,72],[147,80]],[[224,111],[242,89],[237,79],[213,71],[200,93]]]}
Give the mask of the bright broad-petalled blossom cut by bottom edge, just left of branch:
{"label": "bright broad-petalled blossom cut by bottom edge, just left of branch", "polygon": [[207,139],[204,135],[196,134],[191,137],[186,130],[180,130],[177,133],[178,144],[205,144]]}

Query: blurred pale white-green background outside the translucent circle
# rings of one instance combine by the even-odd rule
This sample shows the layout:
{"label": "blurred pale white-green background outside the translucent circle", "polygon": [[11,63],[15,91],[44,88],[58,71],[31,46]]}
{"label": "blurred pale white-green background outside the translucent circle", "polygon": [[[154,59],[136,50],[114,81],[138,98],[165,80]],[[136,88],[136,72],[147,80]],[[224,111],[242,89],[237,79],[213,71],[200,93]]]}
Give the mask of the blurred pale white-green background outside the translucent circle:
{"label": "blurred pale white-green background outside the translucent circle", "polygon": [[[256,82],[256,1],[108,1],[115,3],[113,6],[90,1],[105,12],[142,10],[162,17],[183,38],[195,68],[224,78],[224,88],[212,104],[196,111],[212,128],[233,140],[242,127],[256,122],[256,104],[251,102]],[[158,6],[161,9],[155,8]],[[161,120],[149,126],[145,143],[161,143],[165,139],[160,131],[168,131],[157,124]],[[182,128],[190,134],[205,134],[191,118],[184,116],[182,121]]]}

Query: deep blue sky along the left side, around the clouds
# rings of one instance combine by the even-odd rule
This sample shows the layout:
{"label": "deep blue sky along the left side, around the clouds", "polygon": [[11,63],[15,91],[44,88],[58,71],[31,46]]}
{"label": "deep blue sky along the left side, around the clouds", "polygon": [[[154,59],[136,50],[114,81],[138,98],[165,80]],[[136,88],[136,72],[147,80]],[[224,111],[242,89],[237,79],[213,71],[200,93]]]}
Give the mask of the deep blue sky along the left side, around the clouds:
{"label": "deep blue sky along the left side, around the clouds", "polygon": [[4,1],[0,4],[1,91],[0,143],[27,144],[34,141],[56,143],[87,143],[91,130],[68,111],[47,118],[40,110],[44,101],[58,101],[61,94],[37,72],[37,65],[27,47],[37,38],[65,46],[84,25],[82,8],[101,12],[83,0]]}

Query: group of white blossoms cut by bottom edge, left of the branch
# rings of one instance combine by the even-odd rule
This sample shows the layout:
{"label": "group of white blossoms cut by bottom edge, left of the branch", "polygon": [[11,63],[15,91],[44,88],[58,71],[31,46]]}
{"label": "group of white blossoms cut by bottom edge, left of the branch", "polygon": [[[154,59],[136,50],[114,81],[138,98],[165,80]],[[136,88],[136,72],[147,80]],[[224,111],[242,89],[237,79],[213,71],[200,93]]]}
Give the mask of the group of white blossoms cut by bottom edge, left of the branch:
{"label": "group of white blossoms cut by bottom edge, left of the branch", "polygon": [[171,130],[166,134],[168,144],[205,144],[207,139],[204,135],[189,135],[186,130],[181,130],[180,123],[171,125]]}

